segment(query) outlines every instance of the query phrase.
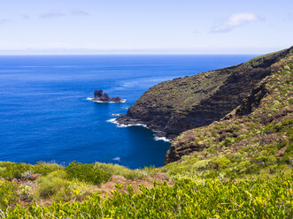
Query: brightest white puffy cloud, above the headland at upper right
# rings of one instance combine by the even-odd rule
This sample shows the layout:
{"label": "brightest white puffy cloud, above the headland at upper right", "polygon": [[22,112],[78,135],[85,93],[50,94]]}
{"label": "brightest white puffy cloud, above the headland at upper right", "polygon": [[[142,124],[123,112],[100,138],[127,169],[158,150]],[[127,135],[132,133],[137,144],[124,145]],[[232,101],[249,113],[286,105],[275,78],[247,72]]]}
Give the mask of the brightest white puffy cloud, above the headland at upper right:
{"label": "brightest white puffy cloud, above the headland at upper right", "polygon": [[254,13],[235,13],[229,16],[224,22],[212,26],[211,33],[227,33],[238,26],[245,26],[258,20],[260,18]]}

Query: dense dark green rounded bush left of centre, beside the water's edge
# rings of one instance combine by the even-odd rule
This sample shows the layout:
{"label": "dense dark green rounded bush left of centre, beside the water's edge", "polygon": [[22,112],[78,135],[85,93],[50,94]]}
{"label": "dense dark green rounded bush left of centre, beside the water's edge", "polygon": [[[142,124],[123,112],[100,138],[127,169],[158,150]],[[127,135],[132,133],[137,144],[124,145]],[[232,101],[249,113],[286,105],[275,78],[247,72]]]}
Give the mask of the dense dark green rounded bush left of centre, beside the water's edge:
{"label": "dense dark green rounded bush left of centre, beside the water's edge", "polygon": [[100,185],[106,182],[110,174],[99,168],[94,163],[82,164],[81,162],[70,162],[65,168],[68,178],[78,179],[82,182]]}

